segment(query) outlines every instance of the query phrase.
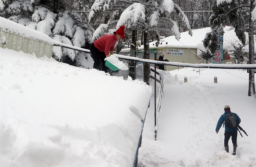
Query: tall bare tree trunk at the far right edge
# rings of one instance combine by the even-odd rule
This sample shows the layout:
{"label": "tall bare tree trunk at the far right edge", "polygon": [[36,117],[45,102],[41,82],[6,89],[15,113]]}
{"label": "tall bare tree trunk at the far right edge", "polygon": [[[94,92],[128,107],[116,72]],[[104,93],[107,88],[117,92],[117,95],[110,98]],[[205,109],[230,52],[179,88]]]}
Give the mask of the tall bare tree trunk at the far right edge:
{"label": "tall bare tree trunk at the far right edge", "polygon": [[[254,0],[251,0],[250,5],[250,19],[249,19],[249,64],[254,64],[254,42],[253,42],[253,21],[251,20],[251,12],[254,9]],[[249,89],[248,96],[255,94],[255,84],[254,84],[254,70],[249,70]]]}

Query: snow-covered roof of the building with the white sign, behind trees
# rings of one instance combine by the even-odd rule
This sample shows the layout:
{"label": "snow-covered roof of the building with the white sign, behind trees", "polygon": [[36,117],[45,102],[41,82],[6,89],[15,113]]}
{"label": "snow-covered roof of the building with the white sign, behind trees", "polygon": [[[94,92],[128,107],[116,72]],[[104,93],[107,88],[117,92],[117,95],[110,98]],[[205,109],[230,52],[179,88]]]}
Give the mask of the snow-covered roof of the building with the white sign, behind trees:
{"label": "snow-covered roof of the building with the white sign, behind trees", "polygon": [[[160,44],[158,47],[155,46],[157,41],[153,41],[149,43],[149,48],[164,48],[164,47],[171,47],[171,48],[189,48],[189,49],[201,49],[205,50],[203,46],[203,40],[205,38],[206,33],[211,32],[210,27],[202,28],[202,29],[195,29],[192,30],[193,35],[190,36],[189,32],[182,32],[180,33],[181,38],[179,41],[175,39],[175,36],[168,36],[160,40]],[[223,36],[223,48],[225,50],[229,50],[231,47],[230,42],[238,42],[239,39],[236,36],[235,29],[230,26],[224,27],[224,36]],[[248,33],[246,33],[246,38],[248,41]],[[144,46],[141,45],[138,47],[139,50],[143,50]],[[244,47],[245,52],[249,51],[248,45]],[[130,51],[130,48],[123,49],[122,51]]]}

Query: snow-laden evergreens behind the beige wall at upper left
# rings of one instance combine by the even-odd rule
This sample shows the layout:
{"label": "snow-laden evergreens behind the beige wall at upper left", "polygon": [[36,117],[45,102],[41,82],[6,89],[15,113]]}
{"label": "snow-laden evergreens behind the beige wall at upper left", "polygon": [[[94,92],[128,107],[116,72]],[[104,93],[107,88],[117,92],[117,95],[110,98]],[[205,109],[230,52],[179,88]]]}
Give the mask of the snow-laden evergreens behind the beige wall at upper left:
{"label": "snow-laden evergreens behind the beige wall at upper left", "polygon": [[[58,39],[59,42],[85,47],[86,44],[92,42],[94,30],[85,22],[86,13],[69,10],[69,5],[75,6],[75,8],[80,5],[79,8],[88,9],[88,6],[84,5],[87,2],[86,0],[75,0],[69,5],[67,3],[69,2],[52,2],[50,0],[0,0],[0,16],[45,33],[56,40]],[[86,54],[80,54],[79,51],[53,47],[53,57],[56,60],[68,56],[75,61],[78,54],[88,58]],[[81,66],[88,68],[90,65]]]}

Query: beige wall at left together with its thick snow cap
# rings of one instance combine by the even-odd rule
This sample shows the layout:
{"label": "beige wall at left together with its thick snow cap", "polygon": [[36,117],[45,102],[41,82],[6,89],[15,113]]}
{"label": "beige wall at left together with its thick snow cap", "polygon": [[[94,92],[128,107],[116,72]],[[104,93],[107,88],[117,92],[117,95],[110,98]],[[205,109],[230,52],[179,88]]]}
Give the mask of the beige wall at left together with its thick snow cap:
{"label": "beige wall at left together with its thick snow cap", "polygon": [[52,39],[46,34],[0,17],[0,47],[52,57]]}

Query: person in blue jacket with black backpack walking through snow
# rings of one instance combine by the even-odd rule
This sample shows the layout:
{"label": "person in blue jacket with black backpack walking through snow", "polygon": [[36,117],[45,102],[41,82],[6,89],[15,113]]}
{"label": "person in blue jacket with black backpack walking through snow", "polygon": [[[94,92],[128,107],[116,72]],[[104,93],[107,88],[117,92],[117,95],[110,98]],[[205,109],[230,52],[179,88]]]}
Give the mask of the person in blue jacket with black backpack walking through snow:
{"label": "person in blue jacket with black backpack walking through snow", "polygon": [[[232,143],[233,143],[233,155],[236,155],[236,147],[237,147],[237,126],[241,122],[241,119],[236,113],[232,113],[230,111],[229,105],[225,105],[224,107],[225,113],[221,115],[221,117],[218,120],[217,126],[216,126],[216,134],[218,134],[219,129],[221,128],[222,123],[225,121],[225,133],[224,133],[224,147],[227,152],[229,152],[229,139],[232,137]],[[228,120],[227,120],[228,119]],[[231,124],[233,124],[232,127],[230,127]],[[224,125],[223,125],[224,126]]]}

